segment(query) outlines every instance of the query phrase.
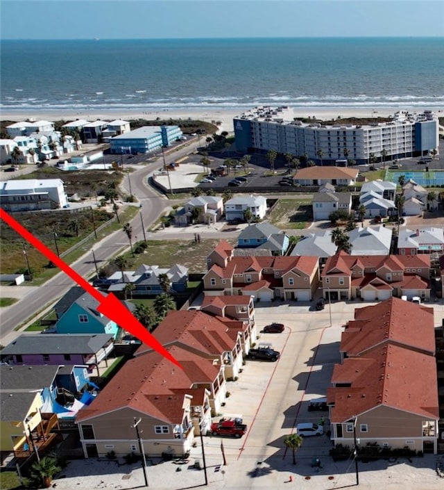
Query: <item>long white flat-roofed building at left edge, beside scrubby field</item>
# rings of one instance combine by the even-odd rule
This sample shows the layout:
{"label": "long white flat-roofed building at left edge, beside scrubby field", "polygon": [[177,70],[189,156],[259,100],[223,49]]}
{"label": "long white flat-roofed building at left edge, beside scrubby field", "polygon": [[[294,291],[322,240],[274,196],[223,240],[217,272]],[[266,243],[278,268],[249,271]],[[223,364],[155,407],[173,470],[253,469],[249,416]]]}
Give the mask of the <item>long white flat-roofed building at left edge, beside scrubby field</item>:
{"label": "long white flat-roofed building at left edge, beside scrubby field", "polygon": [[60,179],[1,182],[0,204],[5,211],[39,211],[69,207],[65,186]]}

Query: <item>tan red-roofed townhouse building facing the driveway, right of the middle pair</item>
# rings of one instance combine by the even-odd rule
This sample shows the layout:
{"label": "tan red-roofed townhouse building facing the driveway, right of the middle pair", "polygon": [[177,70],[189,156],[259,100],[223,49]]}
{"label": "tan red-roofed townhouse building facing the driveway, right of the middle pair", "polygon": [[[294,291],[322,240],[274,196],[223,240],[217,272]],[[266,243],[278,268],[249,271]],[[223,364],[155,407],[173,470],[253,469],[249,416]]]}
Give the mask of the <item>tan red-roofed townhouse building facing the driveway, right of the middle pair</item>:
{"label": "tan red-roofed townhouse building facing the driveway, right of the middle pair", "polygon": [[426,255],[351,256],[341,250],[321,272],[323,297],[381,301],[406,295],[430,297],[430,259]]}

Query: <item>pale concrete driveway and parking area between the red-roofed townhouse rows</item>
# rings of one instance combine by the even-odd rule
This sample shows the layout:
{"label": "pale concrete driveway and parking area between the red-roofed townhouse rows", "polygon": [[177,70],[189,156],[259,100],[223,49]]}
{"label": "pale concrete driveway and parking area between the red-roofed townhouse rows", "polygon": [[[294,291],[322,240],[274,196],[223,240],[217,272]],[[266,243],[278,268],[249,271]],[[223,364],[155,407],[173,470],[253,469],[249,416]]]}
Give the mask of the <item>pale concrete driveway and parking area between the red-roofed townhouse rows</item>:
{"label": "pale concrete driveway and parking area between the red-roofed townhouse rows", "polygon": [[[314,303],[256,305],[258,331],[273,321],[285,325],[284,332],[260,334],[257,339],[271,342],[281,352],[281,357],[277,362],[247,360],[239,379],[228,382],[230,396],[226,399],[224,413],[242,414],[248,432],[241,439],[203,438],[211,489],[327,490],[355,486],[354,462],[333,462],[328,455],[332,444],[327,435],[305,438],[296,452],[296,466],[283,439],[293,432],[297,423],[318,422],[321,415],[326,417],[325,430],[328,429],[326,412],[309,411],[309,400],[321,398],[330,386],[334,364],[340,361],[342,325],[353,318],[355,308],[368,304],[335,302],[327,304],[323,311],[314,311]],[[435,325],[440,325],[444,302],[441,300],[433,306]],[[321,468],[311,466],[314,458],[321,460]],[[426,455],[411,460],[360,462],[359,487],[366,490],[442,489],[443,480],[434,471],[437,459]],[[196,471],[196,461],[203,464],[200,443],[191,450],[186,463],[150,460],[150,487],[172,490],[202,486],[204,472]],[[90,489],[132,489],[143,486],[144,482],[139,465],[117,466],[114,462],[95,460],[71,462],[64,475],[56,480],[58,490],[71,490],[78,485]]]}

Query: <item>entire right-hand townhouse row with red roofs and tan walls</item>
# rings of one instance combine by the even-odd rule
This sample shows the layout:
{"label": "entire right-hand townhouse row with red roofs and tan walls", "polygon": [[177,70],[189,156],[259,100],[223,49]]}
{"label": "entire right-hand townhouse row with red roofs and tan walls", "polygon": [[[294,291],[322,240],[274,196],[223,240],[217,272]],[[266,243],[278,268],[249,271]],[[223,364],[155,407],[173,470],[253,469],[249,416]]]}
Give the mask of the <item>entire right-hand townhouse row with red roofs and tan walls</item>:
{"label": "entire right-hand townhouse row with red roofs and tan walls", "polygon": [[361,447],[377,443],[436,454],[433,309],[394,297],[356,309],[341,352],[327,390],[332,441],[353,447],[356,437]]}

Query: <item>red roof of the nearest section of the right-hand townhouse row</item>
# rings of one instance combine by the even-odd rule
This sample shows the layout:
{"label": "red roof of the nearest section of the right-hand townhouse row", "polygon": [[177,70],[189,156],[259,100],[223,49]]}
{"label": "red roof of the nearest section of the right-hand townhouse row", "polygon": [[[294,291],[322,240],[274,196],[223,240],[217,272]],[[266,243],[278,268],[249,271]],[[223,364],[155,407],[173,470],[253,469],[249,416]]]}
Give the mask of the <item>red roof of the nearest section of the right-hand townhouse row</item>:
{"label": "red roof of the nearest section of the right-hand townhouse row", "polygon": [[436,361],[431,355],[400,345],[381,345],[365,357],[336,365],[332,381],[352,384],[327,390],[328,402],[334,403],[332,423],[343,423],[382,405],[439,418]]}

